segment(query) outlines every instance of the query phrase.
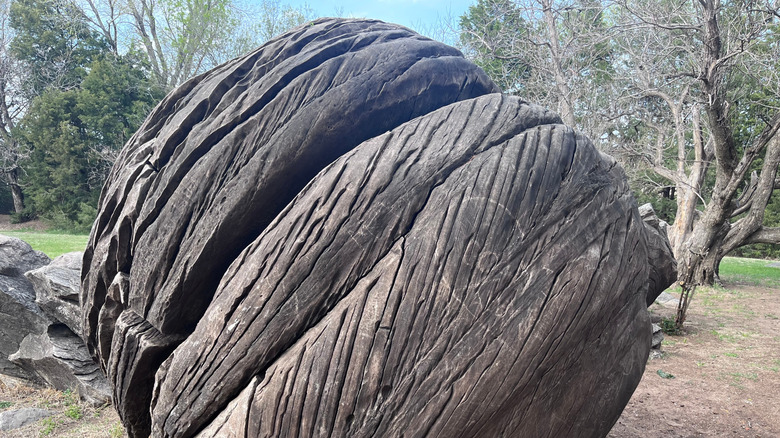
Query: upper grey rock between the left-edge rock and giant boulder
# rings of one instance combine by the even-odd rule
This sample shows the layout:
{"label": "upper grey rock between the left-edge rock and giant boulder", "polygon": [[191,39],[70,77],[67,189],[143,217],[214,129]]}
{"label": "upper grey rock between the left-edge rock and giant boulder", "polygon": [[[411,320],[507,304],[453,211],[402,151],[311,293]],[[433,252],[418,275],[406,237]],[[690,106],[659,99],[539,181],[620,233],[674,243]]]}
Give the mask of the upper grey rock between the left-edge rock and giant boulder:
{"label": "upper grey rock between the left-edge rock and giant boulder", "polygon": [[81,263],[84,253],[56,257],[46,266],[24,274],[35,289],[35,302],[51,319],[81,333]]}

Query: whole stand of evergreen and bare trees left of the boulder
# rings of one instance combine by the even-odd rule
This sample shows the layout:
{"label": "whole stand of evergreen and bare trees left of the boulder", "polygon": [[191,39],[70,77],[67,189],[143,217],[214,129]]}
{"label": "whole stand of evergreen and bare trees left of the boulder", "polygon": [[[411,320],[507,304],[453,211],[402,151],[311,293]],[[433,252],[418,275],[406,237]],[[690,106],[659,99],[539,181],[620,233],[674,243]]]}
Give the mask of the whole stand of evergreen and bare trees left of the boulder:
{"label": "whole stand of evergreen and bare trees left of the boulder", "polygon": [[0,176],[17,220],[86,230],[173,87],[313,18],[278,0],[0,0]]}

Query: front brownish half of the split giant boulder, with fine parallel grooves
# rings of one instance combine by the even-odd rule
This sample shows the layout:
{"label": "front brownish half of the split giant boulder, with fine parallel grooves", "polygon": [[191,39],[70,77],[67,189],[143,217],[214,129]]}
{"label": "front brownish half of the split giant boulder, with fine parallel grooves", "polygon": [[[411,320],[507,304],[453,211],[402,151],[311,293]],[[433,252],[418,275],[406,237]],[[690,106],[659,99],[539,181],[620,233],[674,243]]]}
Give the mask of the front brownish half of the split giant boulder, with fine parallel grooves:
{"label": "front brownish half of the split giant boulder, with fine parallel grooves", "polygon": [[645,233],[615,161],[542,108],[407,122],[236,258],[152,435],[605,436],[650,349]]}

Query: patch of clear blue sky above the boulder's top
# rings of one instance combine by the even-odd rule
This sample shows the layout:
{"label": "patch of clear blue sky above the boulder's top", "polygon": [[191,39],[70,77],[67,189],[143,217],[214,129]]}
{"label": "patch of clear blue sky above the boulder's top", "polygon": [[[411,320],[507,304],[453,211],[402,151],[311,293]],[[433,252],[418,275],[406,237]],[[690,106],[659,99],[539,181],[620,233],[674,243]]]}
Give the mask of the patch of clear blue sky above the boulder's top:
{"label": "patch of clear blue sky above the boulder's top", "polygon": [[[427,33],[439,20],[463,15],[476,0],[287,0],[308,4],[319,16],[376,18]],[[282,0],[282,3],[285,3]],[[457,22],[457,21],[456,21]]]}

